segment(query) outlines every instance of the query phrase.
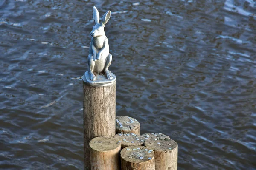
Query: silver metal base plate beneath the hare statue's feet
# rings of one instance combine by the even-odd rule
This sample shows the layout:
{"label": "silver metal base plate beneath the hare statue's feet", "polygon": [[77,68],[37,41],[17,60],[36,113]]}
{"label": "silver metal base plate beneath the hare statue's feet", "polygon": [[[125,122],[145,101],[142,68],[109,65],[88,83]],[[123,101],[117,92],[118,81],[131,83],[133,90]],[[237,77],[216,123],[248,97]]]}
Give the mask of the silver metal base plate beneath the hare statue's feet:
{"label": "silver metal base plate beneath the hare statue's feet", "polygon": [[116,75],[111,73],[111,71],[109,71],[110,74],[112,75],[113,79],[107,79],[107,76],[104,75],[99,75],[96,74],[96,80],[92,81],[90,80],[90,74],[88,73],[88,71],[86,71],[82,77],[83,81],[91,86],[108,86],[108,85],[112,85],[115,81],[116,81]]}

